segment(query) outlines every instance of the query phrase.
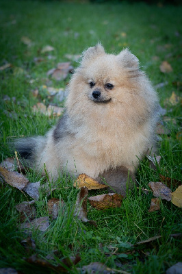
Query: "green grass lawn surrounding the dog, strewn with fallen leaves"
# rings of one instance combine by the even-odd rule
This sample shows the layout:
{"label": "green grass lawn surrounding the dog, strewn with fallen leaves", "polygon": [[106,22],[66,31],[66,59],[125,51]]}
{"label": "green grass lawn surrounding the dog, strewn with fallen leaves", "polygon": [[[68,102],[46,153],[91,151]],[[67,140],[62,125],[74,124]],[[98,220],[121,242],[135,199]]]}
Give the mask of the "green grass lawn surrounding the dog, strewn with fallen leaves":
{"label": "green grass lawn surrounding the dog, strewn with fallen leaves", "polygon": [[[34,253],[45,258],[56,249],[60,251],[60,256],[55,256],[53,264],[59,263],[66,256],[79,253],[79,267],[99,261],[110,268],[129,273],[165,273],[168,267],[181,260],[180,240],[170,238],[170,234],[181,232],[181,209],[161,200],[161,210],[150,213],[148,208],[153,195],[145,195],[141,190],[142,187],[148,188],[148,182],[157,182],[159,174],[174,179],[180,179],[181,176],[181,147],[177,139],[180,131],[180,105],[166,106],[165,103],[172,91],[177,95],[181,91],[181,12],[181,6],[158,7],[144,3],[124,2],[114,5],[0,1],[0,25],[3,30],[0,34],[0,66],[5,62],[12,64],[9,69],[0,71],[1,160],[12,155],[10,147],[14,136],[43,135],[56,123],[57,119],[53,117],[32,112],[32,106],[38,101],[45,99],[45,103],[49,104],[50,99],[41,91],[49,80],[47,71],[58,62],[66,62],[66,53],[81,53],[98,41],[110,53],[119,53],[123,47],[129,47],[140,59],[142,69],[154,85],[168,82],[158,92],[161,105],[168,110],[166,115],[175,120],[175,123],[166,122],[171,130],[170,136],[161,136],[161,164],[157,171],[148,167],[148,160],[141,162],[137,176],[139,189],[129,192],[121,208],[98,211],[88,205],[88,219],[96,221],[97,228],[73,217],[77,190],[73,188],[70,179],[63,177],[59,182],[60,190],[53,192],[52,197],[64,199],[66,210],[60,211],[55,221],[50,221],[48,232],[33,232],[31,238],[36,242],[36,251],[26,253],[20,242],[27,236],[16,227],[18,212],[15,209],[16,204],[26,201],[26,198],[18,190],[1,187],[0,267],[12,267],[22,273],[54,273],[28,264],[23,258]],[[27,36],[34,44],[27,47],[21,42],[22,36]],[[50,53],[55,56],[55,60],[49,60],[47,53],[40,52],[46,45],[55,48]],[[36,57],[42,57],[44,61],[36,64]],[[164,60],[171,64],[172,72],[161,73],[159,65]],[[76,67],[77,62],[73,62],[73,66]],[[67,82],[68,79],[62,82],[52,80],[51,86],[64,88]],[[40,93],[38,98],[31,94],[35,88]],[[4,95],[8,95],[10,101],[5,101]],[[13,97],[16,97],[16,101]],[[40,175],[34,171],[27,173],[27,177],[30,182],[40,179]],[[91,192],[90,195],[96,193]],[[40,200],[36,202],[38,216],[47,214],[48,199],[50,197],[40,195]],[[135,244],[159,234],[163,237],[148,245],[126,245],[126,242]],[[108,246],[118,247],[118,251],[114,253]],[[126,251],[127,255],[118,255]],[[70,271],[77,272],[76,269]]]}

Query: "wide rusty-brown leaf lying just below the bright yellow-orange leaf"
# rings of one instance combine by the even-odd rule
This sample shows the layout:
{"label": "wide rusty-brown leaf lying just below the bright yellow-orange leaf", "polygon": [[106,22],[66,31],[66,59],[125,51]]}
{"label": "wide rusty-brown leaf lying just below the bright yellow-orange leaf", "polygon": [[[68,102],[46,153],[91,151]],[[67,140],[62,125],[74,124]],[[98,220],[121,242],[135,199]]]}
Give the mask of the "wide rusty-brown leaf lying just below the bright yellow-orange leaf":
{"label": "wide rusty-brown leaf lying just below the bright yellow-orange leaf", "polygon": [[97,210],[105,210],[107,208],[120,208],[123,198],[122,195],[108,193],[89,197],[88,201],[93,208],[96,208]]}

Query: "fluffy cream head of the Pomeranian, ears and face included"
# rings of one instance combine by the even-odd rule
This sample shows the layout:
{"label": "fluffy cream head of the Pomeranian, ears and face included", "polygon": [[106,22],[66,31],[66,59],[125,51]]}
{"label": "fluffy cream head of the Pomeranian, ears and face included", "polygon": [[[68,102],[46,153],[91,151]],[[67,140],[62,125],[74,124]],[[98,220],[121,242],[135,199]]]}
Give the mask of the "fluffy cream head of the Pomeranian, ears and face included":
{"label": "fluffy cream head of the Pomeranian, ears and face included", "polygon": [[83,51],[77,69],[80,89],[94,103],[120,100],[123,89],[138,76],[138,58],[128,49],[118,55],[107,54],[101,44]]}

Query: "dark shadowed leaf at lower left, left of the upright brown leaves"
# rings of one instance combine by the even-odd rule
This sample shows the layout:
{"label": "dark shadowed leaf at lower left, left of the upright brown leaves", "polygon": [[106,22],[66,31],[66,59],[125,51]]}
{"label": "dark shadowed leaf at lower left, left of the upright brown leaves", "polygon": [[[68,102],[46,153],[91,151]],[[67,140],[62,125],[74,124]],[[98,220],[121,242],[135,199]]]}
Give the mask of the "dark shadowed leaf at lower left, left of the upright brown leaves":
{"label": "dark shadowed leaf at lower left, left of the upright brown leaves", "polygon": [[34,219],[36,216],[36,208],[33,206],[35,201],[23,201],[23,203],[18,203],[15,206],[16,210],[21,213],[21,223],[23,223],[26,219]]}

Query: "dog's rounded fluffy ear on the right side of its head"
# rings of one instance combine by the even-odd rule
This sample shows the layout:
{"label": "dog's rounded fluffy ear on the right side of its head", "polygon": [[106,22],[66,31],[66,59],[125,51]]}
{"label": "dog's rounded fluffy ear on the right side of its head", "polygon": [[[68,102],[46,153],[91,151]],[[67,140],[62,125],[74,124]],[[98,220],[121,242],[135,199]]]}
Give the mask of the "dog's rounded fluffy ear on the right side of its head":
{"label": "dog's rounded fluffy ear on the right side of its head", "polygon": [[132,54],[129,49],[123,49],[119,54],[118,58],[122,65],[128,69],[139,69],[139,60]]}

